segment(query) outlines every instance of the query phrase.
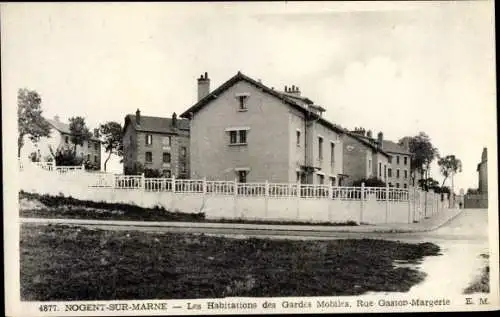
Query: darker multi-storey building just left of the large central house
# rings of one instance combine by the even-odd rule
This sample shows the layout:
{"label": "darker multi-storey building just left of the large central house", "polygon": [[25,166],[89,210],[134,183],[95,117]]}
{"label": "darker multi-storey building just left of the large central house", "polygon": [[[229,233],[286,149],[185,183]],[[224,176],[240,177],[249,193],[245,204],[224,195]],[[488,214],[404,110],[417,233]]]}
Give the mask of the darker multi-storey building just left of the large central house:
{"label": "darker multi-storey building just left of the large central house", "polygon": [[156,171],[164,177],[189,176],[189,121],[149,117],[136,114],[125,116],[123,126],[123,169],[125,174]]}

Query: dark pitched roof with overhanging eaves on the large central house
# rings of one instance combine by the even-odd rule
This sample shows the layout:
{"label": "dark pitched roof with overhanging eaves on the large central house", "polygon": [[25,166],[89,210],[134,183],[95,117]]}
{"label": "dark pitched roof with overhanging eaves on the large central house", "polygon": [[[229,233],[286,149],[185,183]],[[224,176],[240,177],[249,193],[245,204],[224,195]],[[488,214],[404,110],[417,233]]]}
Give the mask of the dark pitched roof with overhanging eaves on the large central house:
{"label": "dark pitched roof with overhanging eaves on the large central house", "polygon": [[[330,121],[324,119],[323,117],[320,117],[317,114],[314,114],[310,112],[306,107],[302,105],[302,103],[306,104],[312,104],[312,101],[308,98],[305,97],[300,97],[300,96],[295,96],[295,95],[290,95],[284,92],[280,92],[274,89],[271,89],[267,87],[266,85],[262,84],[259,81],[256,81],[241,72],[238,72],[236,75],[231,77],[228,81],[217,87],[215,90],[213,90],[211,93],[209,93],[207,96],[199,100],[197,103],[192,105],[189,109],[184,111],[180,116],[183,118],[189,118],[191,113],[196,113],[198,112],[201,108],[205,107],[208,103],[210,103],[213,99],[216,99],[221,93],[232,87],[234,84],[237,82],[244,80],[252,85],[254,85],[257,88],[262,89],[262,91],[282,100],[284,103],[288,104],[291,107],[294,107],[295,109],[298,109],[299,111],[306,113],[313,117],[314,119],[317,119],[318,122],[321,122],[325,126],[329,127],[330,129],[338,132],[338,133],[344,133],[344,129],[342,129],[339,125],[333,124]],[[299,99],[300,101],[297,101],[296,99]]]}

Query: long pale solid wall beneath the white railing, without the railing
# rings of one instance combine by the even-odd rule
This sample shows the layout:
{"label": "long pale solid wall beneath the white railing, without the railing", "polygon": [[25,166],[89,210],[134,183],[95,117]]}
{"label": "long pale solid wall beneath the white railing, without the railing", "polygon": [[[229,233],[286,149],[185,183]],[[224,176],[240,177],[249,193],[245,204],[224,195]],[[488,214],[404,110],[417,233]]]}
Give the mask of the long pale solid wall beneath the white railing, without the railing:
{"label": "long pale solid wall beneath the white railing, without the railing", "polygon": [[[109,174],[106,174],[109,175]],[[112,176],[112,175],[109,175]],[[72,196],[77,199],[128,203],[142,207],[163,206],[186,213],[204,212],[209,219],[268,219],[304,222],[356,221],[370,224],[408,223],[435,214],[446,206],[428,193],[412,192],[411,201],[332,200],[301,197],[240,197],[233,194],[147,192],[142,189],[93,188],[92,173],[77,171],[59,175],[26,164],[20,172],[21,189],[40,194]]]}

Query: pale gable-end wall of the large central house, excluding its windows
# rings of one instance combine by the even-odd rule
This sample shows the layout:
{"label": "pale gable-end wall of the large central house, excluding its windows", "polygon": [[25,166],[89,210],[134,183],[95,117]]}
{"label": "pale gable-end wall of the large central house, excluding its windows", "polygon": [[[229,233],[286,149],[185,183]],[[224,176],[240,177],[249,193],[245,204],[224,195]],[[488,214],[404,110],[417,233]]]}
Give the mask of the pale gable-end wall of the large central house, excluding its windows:
{"label": "pale gable-end wall of the large central house, excluding its windows", "polygon": [[[247,111],[236,94],[249,93]],[[248,182],[288,182],[289,107],[255,86],[239,81],[194,114],[191,120],[191,178],[234,180],[249,168]],[[247,145],[229,145],[226,128],[248,127]]]}

